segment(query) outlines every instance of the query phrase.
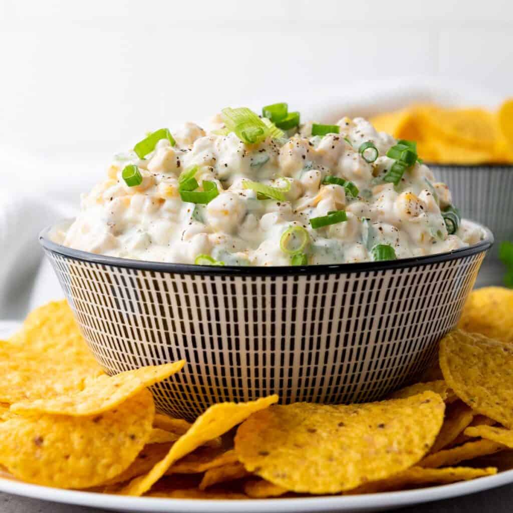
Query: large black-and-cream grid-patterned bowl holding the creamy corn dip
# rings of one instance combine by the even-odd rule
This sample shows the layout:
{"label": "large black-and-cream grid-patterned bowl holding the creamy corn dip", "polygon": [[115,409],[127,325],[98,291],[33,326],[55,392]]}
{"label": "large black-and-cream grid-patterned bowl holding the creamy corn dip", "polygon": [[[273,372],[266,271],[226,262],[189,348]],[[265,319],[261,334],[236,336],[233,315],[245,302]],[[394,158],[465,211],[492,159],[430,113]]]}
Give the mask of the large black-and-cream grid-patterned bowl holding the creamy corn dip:
{"label": "large black-and-cream grid-patterned bowl holding the creamy corn dip", "polygon": [[[210,267],[104,257],[41,243],[109,374],[185,359],[153,387],[194,418],[221,401],[372,401],[418,379],[455,326],[493,242],[390,262]],[[65,358],[65,355],[63,355]]]}

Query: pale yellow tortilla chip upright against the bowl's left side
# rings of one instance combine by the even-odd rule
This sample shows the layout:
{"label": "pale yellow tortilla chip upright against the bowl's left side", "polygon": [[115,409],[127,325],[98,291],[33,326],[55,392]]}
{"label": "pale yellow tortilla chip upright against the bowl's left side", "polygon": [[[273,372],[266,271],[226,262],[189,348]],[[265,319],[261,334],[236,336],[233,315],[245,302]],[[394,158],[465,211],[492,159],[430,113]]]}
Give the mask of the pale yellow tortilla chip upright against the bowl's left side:
{"label": "pale yellow tortilla chip upright against the bowl's left side", "polygon": [[75,392],[101,374],[65,301],[37,308],[20,332],[0,342],[0,402]]}

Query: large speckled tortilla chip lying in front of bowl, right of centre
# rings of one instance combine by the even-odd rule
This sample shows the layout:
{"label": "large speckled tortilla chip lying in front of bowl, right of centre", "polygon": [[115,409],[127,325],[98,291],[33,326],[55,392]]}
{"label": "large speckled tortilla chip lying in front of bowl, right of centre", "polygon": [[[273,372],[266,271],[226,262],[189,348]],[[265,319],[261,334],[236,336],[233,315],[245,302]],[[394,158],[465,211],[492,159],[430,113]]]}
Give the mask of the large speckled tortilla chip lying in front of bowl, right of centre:
{"label": "large speckled tortilla chip lying in front of bowl, right of centre", "polygon": [[415,465],[442,426],[435,392],[378,403],[295,403],[252,415],[235,451],[250,472],[291,491],[334,494]]}

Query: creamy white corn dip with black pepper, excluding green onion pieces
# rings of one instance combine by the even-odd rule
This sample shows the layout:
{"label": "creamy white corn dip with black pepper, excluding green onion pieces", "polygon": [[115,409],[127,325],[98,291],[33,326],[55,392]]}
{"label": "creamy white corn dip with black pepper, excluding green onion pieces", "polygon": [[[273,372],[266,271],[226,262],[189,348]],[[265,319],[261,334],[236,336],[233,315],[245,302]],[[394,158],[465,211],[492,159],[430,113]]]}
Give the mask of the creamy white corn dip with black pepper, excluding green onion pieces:
{"label": "creamy white corn dip with black pepper, excluding green onion pieces", "polygon": [[[107,179],[83,196],[63,244],[155,262],[193,264],[199,254],[207,254],[226,265],[286,266],[290,255],[281,250],[280,239],[294,225],[309,233],[304,250],[309,264],[371,261],[376,244],[389,244],[401,259],[481,239],[481,229],[465,222],[456,234],[447,234],[440,209],[451,203],[450,191],[427,166],[415,164],[396,187],[374,185],[394,162],[385,156],[396,144],[392,136],[378,133],[362,118],[344,118],[338,125],[340,134],[312,137],[308,124],[288,140],[249,146],[234,133],[206,133],[187,123],[172,132],[174,147],[161,140],[145,160],[134,153],[116,159]],[[365,141],[379,150],[371,164],[358,152]],[[136,187],[122,179],[123,168],[131,163],[143,175]],[[200,167],[200,186],[209,180],[220,192],[208,205],[180,198],[178,177],[193,165]],[[359,197],[346,196],[339,185],[322,185],[328,174],[352,182]],[[287,201],[258,200],[254,191],[243,188],[244,179],[278,188],[288,181]],[[345,210],[347,221],[311,228],[311,218],[333,210]]]}

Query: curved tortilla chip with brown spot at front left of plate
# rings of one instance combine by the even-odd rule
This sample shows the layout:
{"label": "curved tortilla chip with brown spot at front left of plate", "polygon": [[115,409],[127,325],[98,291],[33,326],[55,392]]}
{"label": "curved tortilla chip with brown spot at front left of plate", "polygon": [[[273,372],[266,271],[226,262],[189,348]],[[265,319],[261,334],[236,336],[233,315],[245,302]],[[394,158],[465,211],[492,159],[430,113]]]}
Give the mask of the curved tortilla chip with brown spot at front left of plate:
{"label": "curved tortilla chip with brown spot at front left of plate", "polygon": [[153,398],[143,390],[97,416],[16,416],[0,424],[0,463],[29,483],[96,486],[135,460],[150,435],[153,415]]}

